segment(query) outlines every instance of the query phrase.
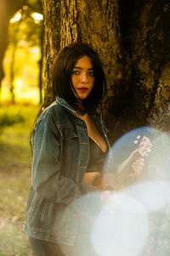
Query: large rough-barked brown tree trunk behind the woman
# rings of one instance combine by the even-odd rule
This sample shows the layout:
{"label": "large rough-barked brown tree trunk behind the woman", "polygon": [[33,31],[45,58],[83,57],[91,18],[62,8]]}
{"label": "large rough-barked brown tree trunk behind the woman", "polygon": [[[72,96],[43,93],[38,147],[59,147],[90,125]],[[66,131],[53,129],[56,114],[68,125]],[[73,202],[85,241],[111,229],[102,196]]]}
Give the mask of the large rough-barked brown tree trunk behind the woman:
{"label": "large rough-barked brown tree trunk behind the woman", "polygon": [[[113,143],[144,125],[169,130],[170,4],[167,0],[45,0],[45,104],[53,100],[50,70],[59,48],[90,43],[104,64],[108,95],[100,111]],[[152,221],[142,255],[156,255],[162,214]]]}

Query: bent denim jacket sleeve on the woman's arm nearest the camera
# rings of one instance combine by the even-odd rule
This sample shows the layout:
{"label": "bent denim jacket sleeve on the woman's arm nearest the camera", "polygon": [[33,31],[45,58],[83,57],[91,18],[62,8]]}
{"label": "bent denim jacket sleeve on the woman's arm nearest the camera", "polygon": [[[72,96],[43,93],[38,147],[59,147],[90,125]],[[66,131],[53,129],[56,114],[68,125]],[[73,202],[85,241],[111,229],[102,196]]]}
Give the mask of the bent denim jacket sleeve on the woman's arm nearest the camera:
{"label": "bent denim jacket sleeve on the woman's arm nearest the camera", "polygon": [[37,122],[32,131],[31,142],[33,147],[31,182],[39,196],[50,202],[67,204],[83,194],[97,191],[92,185],[78,185],[73,179],[60,174],[59,130],[54,125],[51,113],[47,113],[46,117]]}

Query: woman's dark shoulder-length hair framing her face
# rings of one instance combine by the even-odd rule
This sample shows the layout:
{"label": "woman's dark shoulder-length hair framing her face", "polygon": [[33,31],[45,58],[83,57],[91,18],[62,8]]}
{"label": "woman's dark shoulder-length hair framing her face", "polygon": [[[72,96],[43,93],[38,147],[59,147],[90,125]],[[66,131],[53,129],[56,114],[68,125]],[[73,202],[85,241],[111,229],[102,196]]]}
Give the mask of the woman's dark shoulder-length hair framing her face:
{"label": "woman's dark shoulder-length hair framing her face", "polygon": [[[79,109],[77,105],[78,99],[71,89],[73,88],[71,72],[77,60],[83,56],[88,56],[92,62],[94,88],[88,97],[82,101],[82,111],[82,109]],[[87,43],[71,43],[60,50],[54,60],[52,82],[54,96],[65,99],[72,107],[84,113],[90,109],[97,108],[106,91],[105,73],[101,61],[98,54]]]}

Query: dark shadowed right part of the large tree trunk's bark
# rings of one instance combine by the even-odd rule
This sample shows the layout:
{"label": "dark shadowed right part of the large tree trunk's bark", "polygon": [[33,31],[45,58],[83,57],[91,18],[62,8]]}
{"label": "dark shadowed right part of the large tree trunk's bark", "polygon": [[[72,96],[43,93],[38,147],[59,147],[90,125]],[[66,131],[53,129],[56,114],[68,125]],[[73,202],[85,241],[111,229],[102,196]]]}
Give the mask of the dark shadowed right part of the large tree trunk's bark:
{"label": "dark shadowed right part of the large tree trunk's bark", "polygon": [[169,130],[170,4],[120,1],[120,9],[127,81],[118,92],[122,100],[113,105],[116,127],[125,123],[125,132],[148,124]]}

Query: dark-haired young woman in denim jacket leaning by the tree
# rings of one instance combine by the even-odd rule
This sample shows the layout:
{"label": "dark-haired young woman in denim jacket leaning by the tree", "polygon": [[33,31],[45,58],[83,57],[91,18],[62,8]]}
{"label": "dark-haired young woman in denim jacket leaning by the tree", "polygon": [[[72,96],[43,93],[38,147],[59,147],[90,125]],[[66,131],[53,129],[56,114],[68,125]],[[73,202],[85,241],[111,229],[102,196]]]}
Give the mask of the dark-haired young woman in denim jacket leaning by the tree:
{"label": "dark-haired young woman in denim jacket leaning by the tree", "polygon": [[105,94],[105,74],[94,50],[83,43],[63,48],[54,61],[53,88],[56,101],[37,118],[31,134],[25,230],[36,256],[94,256],[86,220],[69,207],[88,195],[90,208],[110,194],[93,193],[109,150],[96,111]]}

